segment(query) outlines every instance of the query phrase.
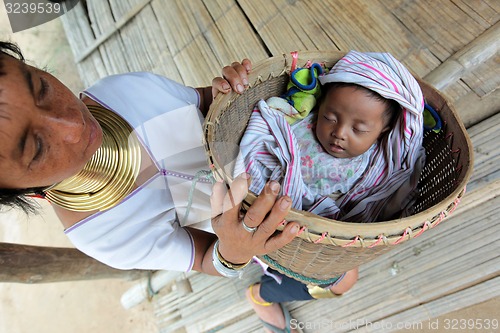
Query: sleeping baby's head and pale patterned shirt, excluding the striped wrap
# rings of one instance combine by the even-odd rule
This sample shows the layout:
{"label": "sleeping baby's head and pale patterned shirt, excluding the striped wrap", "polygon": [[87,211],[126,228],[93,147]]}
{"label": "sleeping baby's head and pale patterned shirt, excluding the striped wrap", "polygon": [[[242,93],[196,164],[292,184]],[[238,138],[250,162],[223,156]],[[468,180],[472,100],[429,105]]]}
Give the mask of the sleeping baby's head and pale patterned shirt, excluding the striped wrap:
{"label": "sleeping baby's head and pale patterned shirt, excluding the striped wrap", "polygon": [[323,86],[319,110],[291,126],[307,187],[337,198],[365,172],[376,143],[401,113],[400,105],[352,83]]}

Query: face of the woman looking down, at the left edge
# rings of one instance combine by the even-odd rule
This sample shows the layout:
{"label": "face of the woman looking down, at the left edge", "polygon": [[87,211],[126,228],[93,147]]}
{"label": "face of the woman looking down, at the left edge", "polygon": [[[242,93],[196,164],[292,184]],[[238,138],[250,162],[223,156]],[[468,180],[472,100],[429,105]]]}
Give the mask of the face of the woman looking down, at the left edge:
{"label": "face of the woman looking down, at the left edge", "polygon": [[75,175],[100,147],[101,127],[55,77],[0,57],[0,188],[44,187]]}

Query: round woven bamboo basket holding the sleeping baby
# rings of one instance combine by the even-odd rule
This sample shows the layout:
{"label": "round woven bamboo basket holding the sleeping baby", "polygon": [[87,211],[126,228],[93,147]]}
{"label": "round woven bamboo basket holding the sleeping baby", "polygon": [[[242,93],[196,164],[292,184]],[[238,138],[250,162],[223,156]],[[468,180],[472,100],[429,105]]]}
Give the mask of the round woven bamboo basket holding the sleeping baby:
{"label": "round woven bamboo basket holding the sleeping baby", "polygon": [[[238,144],[254,105],[260,99],[285,92],[292,62],[297,67],[312,61],[331,68],[342,56],[344,53],[338,51],[304,51],[298,52],[295,60],[291,55],[272,57],[254,65],[245,93],[219,95],[204,124],[205,148],[216,177],[232,180]],[[426,165],[419,180],[415,214],[391,221],[350,223],[292,209],[286,219],[299,222],[303,232],[260,259],[299,281],[328,283],[395,245],[428,232],[455,210],[472,173],[472,144],[453,106],[439,91],[417,80],[426,103],[438,112],[443,127],[439,133],[424,135]],[[255,198],[249,193],[245,204],[250,205]]]}

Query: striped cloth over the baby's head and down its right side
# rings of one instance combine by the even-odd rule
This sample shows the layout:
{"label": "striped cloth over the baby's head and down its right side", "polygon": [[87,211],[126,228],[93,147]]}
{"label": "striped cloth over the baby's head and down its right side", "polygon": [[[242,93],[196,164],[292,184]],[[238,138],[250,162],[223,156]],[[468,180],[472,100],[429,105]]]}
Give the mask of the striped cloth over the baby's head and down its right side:
{"label": "striped cloth over the baby's head and down its right side", "polygon": [[401,105],[398,123],[378,145],[362,179],[336,202],[340,220],[373,222],[398,217],[414,201],[425,161],[420,86],[389,53],[357,51],[347,53],[319,81],[322,85],[355,83]]}

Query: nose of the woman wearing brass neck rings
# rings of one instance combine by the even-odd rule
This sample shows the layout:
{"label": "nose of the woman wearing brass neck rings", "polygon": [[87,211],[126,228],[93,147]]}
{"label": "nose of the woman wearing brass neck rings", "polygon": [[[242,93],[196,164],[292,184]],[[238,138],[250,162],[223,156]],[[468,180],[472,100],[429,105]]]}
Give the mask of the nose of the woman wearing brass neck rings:
{"label": "nose of the woman wearing brass neck rings", "polygon": [[85,121],[79,110],[68,110],[49,114],[45,117],[53,136],[58,136],[65,143],[77,143],[82,139]]}

